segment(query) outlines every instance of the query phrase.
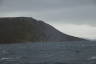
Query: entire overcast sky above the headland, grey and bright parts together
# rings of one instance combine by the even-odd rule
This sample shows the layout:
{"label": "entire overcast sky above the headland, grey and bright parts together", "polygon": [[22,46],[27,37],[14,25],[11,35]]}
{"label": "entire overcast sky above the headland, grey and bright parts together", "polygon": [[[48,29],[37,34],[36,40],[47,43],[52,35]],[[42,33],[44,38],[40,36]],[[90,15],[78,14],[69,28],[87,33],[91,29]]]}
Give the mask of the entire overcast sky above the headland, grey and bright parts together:
{"label": "entire overcast sky above the headland, grey and bright parts together", "polygon": [[0,17],[33,17],[63,33],[96,39],[96,0],[0,0]]}

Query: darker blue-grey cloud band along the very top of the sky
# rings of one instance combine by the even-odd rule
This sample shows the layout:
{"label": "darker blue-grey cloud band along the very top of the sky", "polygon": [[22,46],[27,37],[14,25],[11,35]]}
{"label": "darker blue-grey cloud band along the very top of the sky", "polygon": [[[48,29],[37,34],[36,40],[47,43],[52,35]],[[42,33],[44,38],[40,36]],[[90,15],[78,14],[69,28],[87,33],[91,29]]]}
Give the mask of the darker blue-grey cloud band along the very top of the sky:
{"label": "darker blue-grey cloud band along the very top of the sky", "polygon": [[93,4],[94,0],[4,0],[7,10],[44,10]]}

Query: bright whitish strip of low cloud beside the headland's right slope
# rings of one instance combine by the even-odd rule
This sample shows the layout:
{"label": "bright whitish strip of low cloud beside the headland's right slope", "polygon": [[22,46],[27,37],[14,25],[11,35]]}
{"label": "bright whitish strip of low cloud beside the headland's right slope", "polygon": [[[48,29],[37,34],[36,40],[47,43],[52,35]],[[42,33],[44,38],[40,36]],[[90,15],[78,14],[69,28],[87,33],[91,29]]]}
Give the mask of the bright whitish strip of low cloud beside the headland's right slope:
{"label": "bright whitish strip of low cloud beside the headland's right slope", "polygon": [[76,24],[52,24],[55,28],[60,30],[63,33],[91,39],[96,39],[96,27],[90,26],[90,25],[76,25]]}

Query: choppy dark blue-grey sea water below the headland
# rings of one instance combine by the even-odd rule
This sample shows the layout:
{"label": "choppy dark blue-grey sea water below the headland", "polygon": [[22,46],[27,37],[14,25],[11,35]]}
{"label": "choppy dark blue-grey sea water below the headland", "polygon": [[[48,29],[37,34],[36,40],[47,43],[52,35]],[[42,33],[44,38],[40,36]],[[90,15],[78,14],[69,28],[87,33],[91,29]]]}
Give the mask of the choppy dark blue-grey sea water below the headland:
{"label": "choppy dark blue-grey sea water below the headland", "polygon": [[0,44],[0,64],[96,64],[96,42]]}

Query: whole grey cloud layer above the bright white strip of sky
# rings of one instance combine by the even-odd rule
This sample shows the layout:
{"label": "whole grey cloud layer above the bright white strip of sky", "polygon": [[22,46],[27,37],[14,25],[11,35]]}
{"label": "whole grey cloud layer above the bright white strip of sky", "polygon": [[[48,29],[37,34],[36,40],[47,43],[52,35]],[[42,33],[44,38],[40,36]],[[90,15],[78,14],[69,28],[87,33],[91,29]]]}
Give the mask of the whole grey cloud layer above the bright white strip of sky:
{"label": "whole grey cloud layer above the bright white strip of sky", "polygon": [[0,16],[24,12],[48,22],[96,24],[95,11],[96,0],[3,0]]}

